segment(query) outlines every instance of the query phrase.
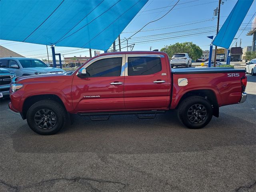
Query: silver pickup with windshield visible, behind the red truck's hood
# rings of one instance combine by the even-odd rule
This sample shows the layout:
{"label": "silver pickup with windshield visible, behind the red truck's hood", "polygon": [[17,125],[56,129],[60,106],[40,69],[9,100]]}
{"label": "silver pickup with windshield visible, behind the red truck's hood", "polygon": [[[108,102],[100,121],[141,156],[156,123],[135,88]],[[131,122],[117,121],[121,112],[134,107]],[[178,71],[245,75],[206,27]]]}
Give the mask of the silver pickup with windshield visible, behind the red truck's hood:
{"label": "silver pickup with windshield visible, behind the red truck's hood", "polygon": [[47,66],[39,59],[24,57],[0,58],[0,67],[5,68],[10,72],[14,72],[16,76],[64,72],[63,69]]}

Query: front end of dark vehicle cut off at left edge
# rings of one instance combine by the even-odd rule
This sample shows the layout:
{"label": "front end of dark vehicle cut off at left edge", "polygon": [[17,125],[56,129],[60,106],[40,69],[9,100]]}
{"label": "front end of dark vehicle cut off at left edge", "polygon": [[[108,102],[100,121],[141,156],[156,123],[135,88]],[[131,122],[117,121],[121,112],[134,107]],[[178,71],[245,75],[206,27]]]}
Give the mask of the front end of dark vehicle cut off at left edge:
{"label": "front end of dark vehicle cut off at left edge", "polygon": [[16,77],[15,73],[0,68],[0,98],[9,96],[10,85],[14,77]]}

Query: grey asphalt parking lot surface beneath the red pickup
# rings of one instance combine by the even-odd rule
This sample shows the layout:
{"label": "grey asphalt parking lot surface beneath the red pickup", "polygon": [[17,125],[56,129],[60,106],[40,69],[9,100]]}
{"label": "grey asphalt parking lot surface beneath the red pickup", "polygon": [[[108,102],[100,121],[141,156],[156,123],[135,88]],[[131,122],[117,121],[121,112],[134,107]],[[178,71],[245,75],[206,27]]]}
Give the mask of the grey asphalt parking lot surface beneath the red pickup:
{"label": "grey asphalt parking lot surface beneath the red pickup", "polygon": [[175,112],[155,119],[76,117],[41,136],[0,101],[0,191],[256,191],[256,77],[246,102],[220,108],[208,126]]}

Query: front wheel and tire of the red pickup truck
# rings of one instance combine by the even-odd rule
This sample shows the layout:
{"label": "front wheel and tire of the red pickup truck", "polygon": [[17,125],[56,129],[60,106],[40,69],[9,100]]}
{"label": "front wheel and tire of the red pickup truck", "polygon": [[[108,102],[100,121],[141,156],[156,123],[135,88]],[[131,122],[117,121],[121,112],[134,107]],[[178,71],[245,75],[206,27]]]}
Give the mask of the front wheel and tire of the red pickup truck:
{"label": "front wheel and tire of the red pickup truck", "polygon": [[34,103],[27,113],[28,126],[40,135],[56,134],[65,124],[66,109],[53,100]]}

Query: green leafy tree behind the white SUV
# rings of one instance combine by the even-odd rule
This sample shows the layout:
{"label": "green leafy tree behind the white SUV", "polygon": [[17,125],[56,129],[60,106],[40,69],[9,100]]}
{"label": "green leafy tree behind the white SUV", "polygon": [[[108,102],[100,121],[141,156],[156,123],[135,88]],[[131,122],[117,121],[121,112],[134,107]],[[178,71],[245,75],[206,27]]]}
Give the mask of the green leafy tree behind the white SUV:
{"label": "green leafy tree behind the white SUV", "polygon": [[173,45],[165,46],[161,51],[166,52],[170,58],[176,53],[188,53],[192,60],[200,58],[203,50],[192,42],[176,43]]}

